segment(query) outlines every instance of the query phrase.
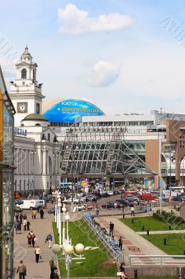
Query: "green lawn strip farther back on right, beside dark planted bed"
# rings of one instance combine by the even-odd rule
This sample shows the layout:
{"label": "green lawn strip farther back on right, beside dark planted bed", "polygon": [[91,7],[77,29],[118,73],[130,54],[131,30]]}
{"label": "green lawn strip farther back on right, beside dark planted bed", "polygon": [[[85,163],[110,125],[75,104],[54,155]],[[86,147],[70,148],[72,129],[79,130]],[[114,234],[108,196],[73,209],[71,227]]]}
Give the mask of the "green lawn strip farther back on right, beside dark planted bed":
{"label": "green lawn strip farther back on right, beside dark planted bed", "polygon": [[[134,219],[134,224],[131,223],[131,220]],[[119,219],[124,225],[127,225],[135,232],[142,232],[143,226],[145,226],[145,231],[149,229],[152,231],[168,231],[169,225],[163,221],[156,220],[152,216],[148,217],[134,217],[134,218],[121,218]],[[171,226],[173,229],[173,226]],[[180,225],[175,225],[174,229],[183,229]]]}

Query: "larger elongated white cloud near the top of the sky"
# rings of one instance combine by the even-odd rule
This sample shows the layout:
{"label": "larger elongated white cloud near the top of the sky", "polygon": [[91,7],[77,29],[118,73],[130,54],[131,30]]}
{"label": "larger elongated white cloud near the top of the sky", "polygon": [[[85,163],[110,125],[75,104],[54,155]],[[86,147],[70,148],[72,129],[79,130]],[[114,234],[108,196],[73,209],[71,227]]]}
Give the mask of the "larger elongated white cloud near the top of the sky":
{"label": "larger elongated white cloud near the top of the sky", "polygon": [[89,17],[86,10],[79,10],[72,3],[67,4],[65,9],[58,8],[58,22],[61,22],[61,33],[87,33],[99,31],[115,31],[129,27],[132,19],[128,15],[111,13]]}

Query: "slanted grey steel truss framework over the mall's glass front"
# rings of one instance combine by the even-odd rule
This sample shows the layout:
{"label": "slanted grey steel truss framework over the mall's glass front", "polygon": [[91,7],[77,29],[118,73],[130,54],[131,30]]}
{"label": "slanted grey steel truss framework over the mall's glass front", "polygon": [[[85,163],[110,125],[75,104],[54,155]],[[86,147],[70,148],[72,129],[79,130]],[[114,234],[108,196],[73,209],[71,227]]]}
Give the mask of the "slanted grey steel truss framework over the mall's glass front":
{"label": "slanted grey steel truss framework over the mall's glass front", "polygon": [[145,141],[125,141],[124,126],[74,124],[61,148],[63,174],[154,176],[145,163]]}

